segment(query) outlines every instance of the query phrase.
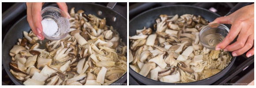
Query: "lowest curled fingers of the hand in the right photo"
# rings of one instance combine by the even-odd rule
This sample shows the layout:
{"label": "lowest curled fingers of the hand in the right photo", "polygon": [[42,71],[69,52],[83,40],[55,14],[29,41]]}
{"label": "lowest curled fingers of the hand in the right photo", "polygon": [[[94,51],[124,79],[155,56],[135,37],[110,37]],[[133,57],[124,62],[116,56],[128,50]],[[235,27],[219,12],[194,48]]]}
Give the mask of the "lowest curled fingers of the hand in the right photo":
{"label": "lowest curled fingers of the hand in the right photo", "polygon": [[[248,39],[247,39],[247,41],[245,43],[245,46],[243,48],[241,48],[241,49],[233,51],[232,55],[233,56],[242,55],[243,53],[248,51],[253,46],[253,40],[254,40],[254,35],[249,35],[249,37],[248,37]],[[252,55],[252,52],[250,52],[250,54]],[[254,52],[253,52],[253,54],[254,54]],[[249,55],[249,54],[247,54],[247,55]]]}

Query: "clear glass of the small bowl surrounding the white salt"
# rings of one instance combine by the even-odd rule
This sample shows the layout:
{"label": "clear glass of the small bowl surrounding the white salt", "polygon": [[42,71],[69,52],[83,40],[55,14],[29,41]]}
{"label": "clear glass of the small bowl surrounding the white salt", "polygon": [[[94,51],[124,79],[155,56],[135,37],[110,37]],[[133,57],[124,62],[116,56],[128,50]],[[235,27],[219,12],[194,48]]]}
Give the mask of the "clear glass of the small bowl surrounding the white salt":
{"label": "clear glass of the small bowl surrounding the white salt", "polygon": [[59,36],[47,36],[44,32],[42,35],[49,40],[61,40],[68,35],[70,29],[70,23],[68,20],[68,15],[64,13],[64,11],[60,10],[57,7],[45,7],[41,11],[42,20],[45,18],[47,20],[54,20],[58,25]]}

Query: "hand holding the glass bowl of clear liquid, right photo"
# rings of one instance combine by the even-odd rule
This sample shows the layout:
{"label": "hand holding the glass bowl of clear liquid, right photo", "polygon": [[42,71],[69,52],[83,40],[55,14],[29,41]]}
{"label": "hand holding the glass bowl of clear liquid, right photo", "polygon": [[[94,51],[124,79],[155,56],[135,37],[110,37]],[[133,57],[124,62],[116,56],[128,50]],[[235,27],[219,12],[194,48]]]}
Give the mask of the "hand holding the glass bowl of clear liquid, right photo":
{"label": "hand holding the glass bowl of clear liquid, right photo", "polygon": [[[216,18],[209,24],[213,23],[232,25],[230,33],[216,45],[215,50],[233,51],[233,56],[242,55],[246,51],[248,51],[247,57],[254,55],[254,4],[242,7],[226,17]],[[235,37],[237,37],[237,41],[230,44]]]}

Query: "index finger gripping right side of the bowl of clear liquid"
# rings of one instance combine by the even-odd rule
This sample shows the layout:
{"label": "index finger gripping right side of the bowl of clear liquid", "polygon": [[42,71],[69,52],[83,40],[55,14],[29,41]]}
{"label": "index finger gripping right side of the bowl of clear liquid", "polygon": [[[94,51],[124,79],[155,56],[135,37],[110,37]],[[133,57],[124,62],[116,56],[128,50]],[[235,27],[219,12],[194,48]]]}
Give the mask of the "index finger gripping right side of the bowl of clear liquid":
{"label": "index finger gripping right side of the bowl of clear liquid", "polygon": [[225,37],[225,39],[219,43],[218,45],[216,45],[215,50],[220,50],[220,49],[224,49],[226,48],[238,35],[238,33],[241,31],[241,26],[238,23],[234,23],[231,26],[230,32],[228,33],[228,35]]}

